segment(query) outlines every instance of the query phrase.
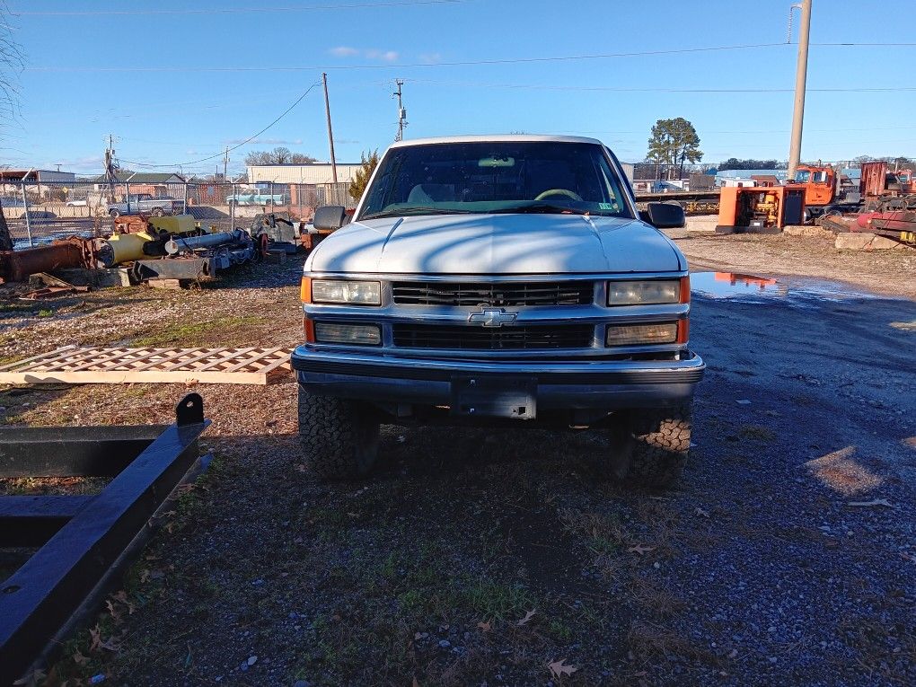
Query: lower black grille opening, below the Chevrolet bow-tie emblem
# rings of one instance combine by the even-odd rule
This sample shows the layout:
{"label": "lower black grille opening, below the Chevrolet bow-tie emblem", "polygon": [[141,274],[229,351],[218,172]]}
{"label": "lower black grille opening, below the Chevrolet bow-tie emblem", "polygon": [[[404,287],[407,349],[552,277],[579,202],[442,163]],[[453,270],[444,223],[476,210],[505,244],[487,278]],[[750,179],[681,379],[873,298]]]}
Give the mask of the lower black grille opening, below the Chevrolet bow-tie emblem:
{"label": "lower black grille opening, below the Chevrolet bow-tie emblem", "polygon": [[589,348],[591,324],[470,327],[439,324],[394,324],[394,344],[404,348],[500,351],[538,348]]}

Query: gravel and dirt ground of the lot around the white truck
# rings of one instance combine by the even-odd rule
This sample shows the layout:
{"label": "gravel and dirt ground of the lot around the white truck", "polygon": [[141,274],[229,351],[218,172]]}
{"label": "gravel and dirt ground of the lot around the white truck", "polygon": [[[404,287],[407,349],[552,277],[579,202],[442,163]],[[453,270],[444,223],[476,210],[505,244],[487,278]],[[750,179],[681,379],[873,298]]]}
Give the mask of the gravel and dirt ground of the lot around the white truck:
{"label": "gravel and dirt ground of the lot around the white truck", "polygon": [[[916,682],[916,303],[888,296],[916,298],[916,258],[682,235],[693,267],[885,295],[799,277],[696,293],[692,346],[709,369],[687,472],[666,493],[596,480],[599,432],[442,428],[384,428],[371,480],[322,485],[298,457],[291,380],[197,387],[216,459],[49,683]],[[292,345],[298,269],[53,305],[7,291],[0,357]],[[7,389],[0,417],[169,421],[186,390]]]}

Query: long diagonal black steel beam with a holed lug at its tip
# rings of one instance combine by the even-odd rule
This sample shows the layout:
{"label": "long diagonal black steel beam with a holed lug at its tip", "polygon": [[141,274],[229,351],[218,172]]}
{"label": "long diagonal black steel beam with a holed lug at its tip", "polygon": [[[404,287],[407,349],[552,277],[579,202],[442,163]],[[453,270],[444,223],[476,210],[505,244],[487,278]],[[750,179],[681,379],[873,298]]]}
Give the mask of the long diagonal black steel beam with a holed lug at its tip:
{"label": "long diagonal black steel beam with a holed lug at its tip", "polygon": [[0,583],[0,684],[14,682],[147,525],[198,458],[209,425],[197,394],[177,422],[4,583]]}

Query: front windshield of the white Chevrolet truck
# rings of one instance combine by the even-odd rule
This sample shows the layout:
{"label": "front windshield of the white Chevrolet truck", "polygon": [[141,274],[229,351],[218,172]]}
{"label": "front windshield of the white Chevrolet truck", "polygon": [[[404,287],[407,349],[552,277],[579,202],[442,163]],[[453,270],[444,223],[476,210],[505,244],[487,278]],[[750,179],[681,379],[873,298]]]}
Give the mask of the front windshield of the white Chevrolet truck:
{"label": "front windshield of the white Chevrolet truck", "polygon": [[632,217],[622,189],[604,149],[590,143],[396,147],[382,159],[359,219],[451,213]]}

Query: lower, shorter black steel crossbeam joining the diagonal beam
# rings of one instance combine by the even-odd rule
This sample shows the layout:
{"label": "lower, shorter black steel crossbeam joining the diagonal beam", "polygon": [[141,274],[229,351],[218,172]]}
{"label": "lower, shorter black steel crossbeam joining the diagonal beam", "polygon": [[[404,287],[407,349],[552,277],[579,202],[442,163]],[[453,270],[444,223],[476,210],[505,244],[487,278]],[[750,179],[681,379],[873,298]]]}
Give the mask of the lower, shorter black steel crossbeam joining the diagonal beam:
{"label": "lower, shorter black steel crossbeam joining the diagonal beam", "polygon": [[40,546],[94,496],[0,496],[0,546]]}

